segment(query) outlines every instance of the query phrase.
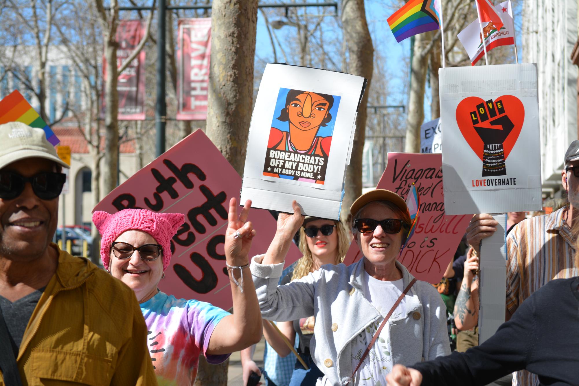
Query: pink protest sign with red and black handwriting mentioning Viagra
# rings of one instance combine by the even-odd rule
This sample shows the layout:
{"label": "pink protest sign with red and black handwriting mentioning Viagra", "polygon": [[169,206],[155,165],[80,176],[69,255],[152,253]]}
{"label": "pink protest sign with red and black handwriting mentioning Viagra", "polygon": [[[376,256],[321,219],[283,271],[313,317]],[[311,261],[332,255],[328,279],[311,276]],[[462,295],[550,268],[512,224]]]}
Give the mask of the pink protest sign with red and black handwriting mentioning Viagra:
{"label": "pink protest sign with red and black handwriting mentioning Viagra", "polygon": [[[420,196],[420,209],[416,230],[399,260],[417,279],[437,284],[472,216],[444,214],[441,154],[388,153],[388,166],[377,188],[406,199],[413,182]],[[354,263],[361,257],[360,248],[352,242],[344,263]]]}

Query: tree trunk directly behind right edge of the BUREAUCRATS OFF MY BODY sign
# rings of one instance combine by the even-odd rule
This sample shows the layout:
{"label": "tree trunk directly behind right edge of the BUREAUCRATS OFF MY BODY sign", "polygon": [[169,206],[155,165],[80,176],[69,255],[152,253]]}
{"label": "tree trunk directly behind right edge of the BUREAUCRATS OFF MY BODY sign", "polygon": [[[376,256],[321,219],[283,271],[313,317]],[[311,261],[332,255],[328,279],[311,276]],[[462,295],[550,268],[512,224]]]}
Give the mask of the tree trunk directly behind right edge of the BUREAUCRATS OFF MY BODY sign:
{"label": "tree trunk directly behind right edge of the BUREAUCRATS OFF MY BODY sign", "polygon": [[341,214],[342,220],[346,220],[350,214],[348,210],[350,205],[362,193],[362,149],[364,149],[366,134],[366,105],[373,71],[374,49],[366,22],[364,0],[345,0],[342,3],[342,24],[349,51],[349,72],[368,79],[364,98],[358,108],[352,155],[346,172],[345,196]]}

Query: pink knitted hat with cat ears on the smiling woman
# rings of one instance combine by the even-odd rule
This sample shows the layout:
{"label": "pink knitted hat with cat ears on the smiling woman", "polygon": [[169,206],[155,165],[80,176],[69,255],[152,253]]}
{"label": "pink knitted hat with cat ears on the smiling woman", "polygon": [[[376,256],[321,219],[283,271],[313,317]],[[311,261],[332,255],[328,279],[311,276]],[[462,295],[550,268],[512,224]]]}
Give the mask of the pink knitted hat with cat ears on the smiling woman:
{"label": "pink knitted hat with cat ears on the smiling woman", "polygon": [[163,271],[171,261],[171,238],[185,222],[181,213],[157,213],[148,209],[123,209],[115,214],[93,213],[93,223],[102,236],[101,260],[108,270],[111,244],[127,230],[141,230],[150,234],[163,247]]}

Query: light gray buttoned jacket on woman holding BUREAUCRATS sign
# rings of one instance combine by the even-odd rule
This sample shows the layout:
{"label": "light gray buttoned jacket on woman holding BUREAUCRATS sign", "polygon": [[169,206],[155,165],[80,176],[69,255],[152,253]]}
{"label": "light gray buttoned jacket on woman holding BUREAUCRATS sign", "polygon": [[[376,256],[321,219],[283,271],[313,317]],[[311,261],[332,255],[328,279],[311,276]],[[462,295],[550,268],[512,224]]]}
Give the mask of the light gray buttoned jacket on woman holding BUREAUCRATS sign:
{"label": "light gray buttoned jacket on woman holding BUREAUCRATS sign", "polygon": [[[345,385],[352,375],[351,343],[357,334],[380,318],[364,297],[364,259],[346,266],[327,264],[300,280],[277,285],[283,263],[261,264],[263,255],[251,262],[255,291],[263,318],[293,321],[316,317],[310,353],[325,374],[318,385]],[[404,288],[413,279],[399,262]],[[417,281],[405,298],[406,314],[390,318],[388,330],[393,365],[413,365],[449,355],[446,307],[438,291]]]}

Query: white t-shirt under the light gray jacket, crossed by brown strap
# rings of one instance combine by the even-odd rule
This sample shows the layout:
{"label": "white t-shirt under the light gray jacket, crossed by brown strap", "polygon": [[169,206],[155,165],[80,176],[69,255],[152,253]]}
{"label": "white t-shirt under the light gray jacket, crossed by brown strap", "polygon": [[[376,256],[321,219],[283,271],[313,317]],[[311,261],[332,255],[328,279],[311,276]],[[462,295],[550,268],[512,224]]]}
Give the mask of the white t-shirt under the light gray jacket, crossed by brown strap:
{"label": "white t-shirt under the light gray jacket, crossed by brown strap", "polygon": [[[382,281],[371,277],[364,271],[364,297],[382,314],[382,317],[378,318],[354,338],[351,352],[352,370],[356,369],[362,354],[364,354],[376,330],[380,327],[380,323],[382,323],[384,317],[389,313],[390,308],[394,306],[394,303],[398,300],[402,291],[404,291],[404,288],[402,288],[403,285],[402,279]],[[395,319],[405,312],[405,301],[402,299],[390,318]],[[390,337],[388,329],[384,326],[376,343],[374,343],[366,359],[362,362],[360,369],[354,376],[353,383],[356,386],[384,386],[386,385],[386,375],[392,371],[392,366]]]}

